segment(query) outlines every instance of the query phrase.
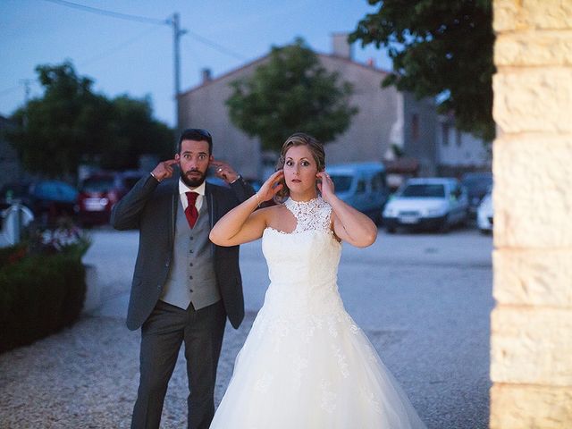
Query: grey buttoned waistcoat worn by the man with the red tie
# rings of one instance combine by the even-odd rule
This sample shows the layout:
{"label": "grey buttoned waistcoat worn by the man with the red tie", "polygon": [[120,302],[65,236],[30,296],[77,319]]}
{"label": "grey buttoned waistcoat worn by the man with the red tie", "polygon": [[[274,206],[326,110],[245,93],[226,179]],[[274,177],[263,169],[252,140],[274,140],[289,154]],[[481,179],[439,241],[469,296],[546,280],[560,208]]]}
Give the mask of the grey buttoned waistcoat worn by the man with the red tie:
{"label": "grey buttoned waistcoat worn by the man with the red tie", "polygon": [[206,198],[203,198],[197,223],[192,230],[182,206],[177,206],[172,265],[161,300],[183,309],[187,309],[192,302],[198,310],[221,299],[214,274],[213,246],[208,240],[209,233]]}

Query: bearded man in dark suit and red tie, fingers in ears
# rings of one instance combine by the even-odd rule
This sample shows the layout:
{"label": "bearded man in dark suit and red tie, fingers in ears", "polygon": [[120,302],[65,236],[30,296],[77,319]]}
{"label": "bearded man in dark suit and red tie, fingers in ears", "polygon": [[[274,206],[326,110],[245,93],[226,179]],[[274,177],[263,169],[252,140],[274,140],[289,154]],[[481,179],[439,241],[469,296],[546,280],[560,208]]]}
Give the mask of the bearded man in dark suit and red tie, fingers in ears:
{"label": "bearded man in dark suit and red tie, fingers in ears", "polygon": [[[208,234],[254,190],[230,165],[214,161],[212,153],[208,131],[184,130],[174,159],[159,163],[112,212],[115,229],[139,229],[127,313],[128,328],[141,328],[139,391],[131,428],[159,427],[182,342],[189,428],[208,428],[226,317],[238,328],[244,316],[239,247],[215,246]],[[176,165],[181,174],[173,178]],[[230,189],[205,181],[209,165]]]}

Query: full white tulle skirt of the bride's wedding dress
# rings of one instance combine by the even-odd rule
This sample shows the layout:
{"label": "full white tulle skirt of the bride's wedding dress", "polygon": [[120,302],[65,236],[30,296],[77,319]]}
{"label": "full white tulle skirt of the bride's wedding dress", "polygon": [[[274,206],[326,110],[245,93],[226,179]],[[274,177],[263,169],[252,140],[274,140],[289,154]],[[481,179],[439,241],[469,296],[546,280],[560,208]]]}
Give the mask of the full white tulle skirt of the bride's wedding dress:
{"label": "full white tulle skirt of the bride's wedding dress", "polygon": [[336,307],[316,314],[266,302],[211,429],[425,428],[365,333]]}

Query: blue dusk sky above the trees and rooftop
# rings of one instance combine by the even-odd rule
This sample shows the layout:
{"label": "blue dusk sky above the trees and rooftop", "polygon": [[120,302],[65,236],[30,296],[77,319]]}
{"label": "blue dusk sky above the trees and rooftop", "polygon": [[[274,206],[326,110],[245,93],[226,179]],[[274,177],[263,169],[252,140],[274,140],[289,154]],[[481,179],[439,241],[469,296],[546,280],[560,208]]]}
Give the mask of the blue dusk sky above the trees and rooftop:
{"label": "blue dusk sky above the trees and rooftop", "polygon": [[[88,6],[147,20],[131,21]],[[151,97],[157,119],[174,124],[172,26],[179,13],[181,90],[198,85],[201,70],[213,77],[302,37],[316,52],[332,51],[331,35],[349,32],[376,7],[366,0],[0,0],[0,114],[8,116],[29,96],[41,95],[38,64],[70,60],[80,76],[95,80],[107,97]],[[156,21],[156,22],[153,22]],[[354,46],[354,58],[391,67],[383,51]]]}

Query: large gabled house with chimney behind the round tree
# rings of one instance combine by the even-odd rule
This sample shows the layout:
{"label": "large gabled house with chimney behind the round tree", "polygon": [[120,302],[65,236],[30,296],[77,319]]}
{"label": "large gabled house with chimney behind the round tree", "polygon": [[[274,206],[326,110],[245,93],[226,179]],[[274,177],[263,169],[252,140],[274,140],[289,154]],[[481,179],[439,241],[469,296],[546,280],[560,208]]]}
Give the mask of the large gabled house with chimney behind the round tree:
{"label": "large gabled house with chimney behind the round tree", "polygon": [[[346,38],[347,34],[334,34],[332,54],[316,54],[326,70],[337,71],[341,80],[352,84],[349,103],[359,110],[349,129],[325,146],[327,163],[383,161],[392,158],[396,147],[404,156],[416,159],[417,174],[438,174],[442,122],[433,99],[416,100],[394,87],[382,88],[381,81],[388,71],[375,67],[373,62],[354,61]],[[225,101],[231,96],[233,80],[248,77],[268,60],[269,55],[265,55],[216,79],[204,70],[202,82],[179,96],[181,128],[210,130],[214,156],[231,163],[245,177],[259,179],[273,171],[276,156],[263,153],[257,139],[249,138],[231,123]],[[477,144],[482,146],[480,141]]]}

